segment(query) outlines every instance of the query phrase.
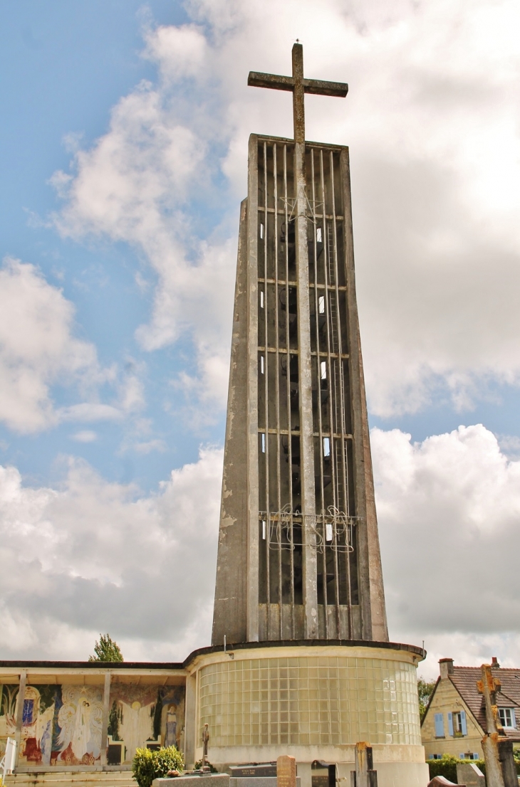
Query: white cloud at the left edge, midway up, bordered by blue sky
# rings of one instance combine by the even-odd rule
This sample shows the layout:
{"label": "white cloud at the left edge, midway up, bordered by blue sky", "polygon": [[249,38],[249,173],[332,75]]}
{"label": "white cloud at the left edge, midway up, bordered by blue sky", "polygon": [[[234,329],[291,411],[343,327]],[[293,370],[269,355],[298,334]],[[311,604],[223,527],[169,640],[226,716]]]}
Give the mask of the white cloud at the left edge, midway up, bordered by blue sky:
{"label": "white cloud at the left edge, midway up, bordered by blue sky", "polygon": [[[7,258],[0,268],[0,421],[34,433],[63,421],[121,420],[145,405],[143,364],[102,368],[95,345],[76,338],[74,306],[32,264]],[[58,406],[53,387],[72,390]],[[102,386],[115,388],[99,401]],[[83,433],[86,434],[86,433]],[[79,439],[79,438],[76,438]]]}

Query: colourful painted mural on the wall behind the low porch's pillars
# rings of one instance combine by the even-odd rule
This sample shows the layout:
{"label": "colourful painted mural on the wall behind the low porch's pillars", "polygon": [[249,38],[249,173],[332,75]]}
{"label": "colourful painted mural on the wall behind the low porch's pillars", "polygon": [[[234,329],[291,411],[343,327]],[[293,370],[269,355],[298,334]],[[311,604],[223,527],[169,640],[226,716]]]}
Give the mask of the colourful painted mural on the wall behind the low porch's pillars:
{"label": "colourful painted mural on the wall behind the low porch's pillars", "polygon": [[[18,685],[3,685],[0,753],[14,737]],[[102,746],[102,686],[28,685],[25,689],[19,766],[91,766]],[[109,742],[116,763],[131,762],[138,747],[184,747],[184,686],[113,683]]]}

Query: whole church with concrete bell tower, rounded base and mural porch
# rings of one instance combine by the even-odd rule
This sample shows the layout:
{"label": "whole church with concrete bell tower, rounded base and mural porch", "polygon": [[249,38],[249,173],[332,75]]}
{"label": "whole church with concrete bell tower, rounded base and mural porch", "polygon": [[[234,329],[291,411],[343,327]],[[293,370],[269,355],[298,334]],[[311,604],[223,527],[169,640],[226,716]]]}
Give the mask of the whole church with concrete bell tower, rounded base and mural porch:
{"label": "whole church with concrete bell tower, rounded base and mural porch", "polygon": [[[304,94],[347,85],[251,72],[292,92],[294,139],[251,135],[232,329],[211,645],[184,663],[0,663],[0,738],[28,771],[110,773],[137,745],[218,770],[295,757],[380,787],[429,781],[422,648],[389,641],[374,502],[347,147],[306,142]],[[23,701],[20,700],[23,697]],[[101,774],[100,774],[101,776]],[[119,783],[119,782],[118,782]]]}

